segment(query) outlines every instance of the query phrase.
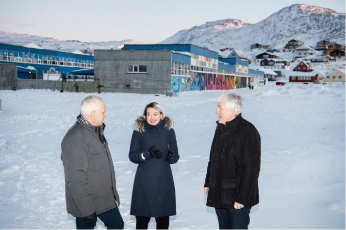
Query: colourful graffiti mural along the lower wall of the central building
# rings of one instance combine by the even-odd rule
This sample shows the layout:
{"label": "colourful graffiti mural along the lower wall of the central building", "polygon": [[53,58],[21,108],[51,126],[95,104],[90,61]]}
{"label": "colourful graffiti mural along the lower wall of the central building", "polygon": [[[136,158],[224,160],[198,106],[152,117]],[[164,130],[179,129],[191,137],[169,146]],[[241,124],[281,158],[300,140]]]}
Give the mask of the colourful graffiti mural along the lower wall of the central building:
{"label": "colourful graffiti mural along the lower wall of the central building", "polygon": [[171,91],[231,90],[246,88],[246,77],[191,71],[191,77],[171,76]]}

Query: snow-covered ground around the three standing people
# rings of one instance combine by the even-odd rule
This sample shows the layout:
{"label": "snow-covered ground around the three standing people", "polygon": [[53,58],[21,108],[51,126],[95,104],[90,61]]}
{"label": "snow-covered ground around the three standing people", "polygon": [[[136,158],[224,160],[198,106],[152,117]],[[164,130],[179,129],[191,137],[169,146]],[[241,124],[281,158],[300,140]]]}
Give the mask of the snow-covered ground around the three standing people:
{"label": "snow-covered ground around the three standing people", "polygon": [[[270,83],[271,84],[271,83]],[[177,213],[171,229],[217,229],[203,184],[214,135],[216,99],[224,91],[177,97],[101,93],[105,136],[115,164],[125,229],[136,165],[128,151],[132,122],[149,102],[175,121],[180,161],[172,165]],[[243,117],[262,138],[260,203],[251,229],[345,229],[345,84],[269,85],[233,90]],[[66,213],[60,143],[87,93],[0,91],[0,229],[74,229]],[[155,229],[152,219],[149,229]],[[97,229],[104,229],[98,222]]]}

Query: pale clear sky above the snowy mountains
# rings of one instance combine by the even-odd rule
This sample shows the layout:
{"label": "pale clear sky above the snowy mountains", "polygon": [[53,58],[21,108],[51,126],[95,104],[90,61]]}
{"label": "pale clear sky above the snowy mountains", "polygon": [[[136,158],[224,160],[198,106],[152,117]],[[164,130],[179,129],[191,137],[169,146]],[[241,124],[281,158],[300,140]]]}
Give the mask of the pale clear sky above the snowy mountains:
{"label": "pale clear sky above the snowy mountains", "polygon": [[0,0],[0,31],[155,44],[207,21],[257,23],[296,3],[345,13],[345,0]]}

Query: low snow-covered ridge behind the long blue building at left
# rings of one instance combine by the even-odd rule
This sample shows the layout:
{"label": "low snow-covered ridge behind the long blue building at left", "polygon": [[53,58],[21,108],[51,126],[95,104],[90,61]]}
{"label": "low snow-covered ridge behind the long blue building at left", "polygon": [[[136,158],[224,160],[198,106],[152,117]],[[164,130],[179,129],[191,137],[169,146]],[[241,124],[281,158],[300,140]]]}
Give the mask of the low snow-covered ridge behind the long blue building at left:
{"label": "low snow-covered ridge behind the long blue building at left", "polygon": [[9,43],[18,46],[24,46],[29,43],[35,43],[44,49],[59,49],[59,50],[86,50],[93,49],[118,49],[124,44],[142,44],[139,41],[128,39],[122,41],[109,41],[109,42],[81,42],[78,40],[57,40],[55,38],[41,37],[30,34],[10,33],[0,31],[0,42]]}

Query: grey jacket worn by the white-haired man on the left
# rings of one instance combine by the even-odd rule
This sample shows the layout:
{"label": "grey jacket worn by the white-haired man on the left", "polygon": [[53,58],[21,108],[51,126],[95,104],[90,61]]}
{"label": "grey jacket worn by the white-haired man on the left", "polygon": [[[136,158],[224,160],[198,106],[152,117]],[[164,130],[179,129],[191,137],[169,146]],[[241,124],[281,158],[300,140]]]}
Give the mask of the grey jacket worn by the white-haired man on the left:
{"label": "grey jacket worn by the white-haired man on the left", "polygon": [[76,122],[61,143],[66,208],[75,217],[107,212],[116,207],[115,200],[120,204],[104,128]]}

